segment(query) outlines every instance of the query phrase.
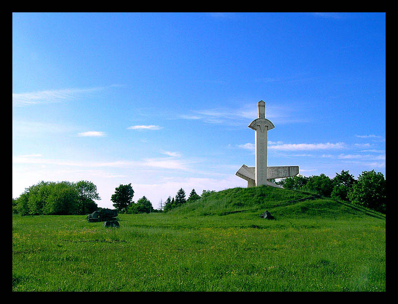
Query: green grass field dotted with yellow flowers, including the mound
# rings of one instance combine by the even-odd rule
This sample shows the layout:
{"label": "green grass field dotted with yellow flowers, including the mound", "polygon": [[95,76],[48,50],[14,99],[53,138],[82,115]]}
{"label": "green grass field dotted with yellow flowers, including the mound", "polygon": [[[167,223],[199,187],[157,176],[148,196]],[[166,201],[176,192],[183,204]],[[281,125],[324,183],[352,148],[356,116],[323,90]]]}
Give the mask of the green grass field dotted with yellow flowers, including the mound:
{"label": "green grass field dotted with yellow flowers, including the mound", "polygon": [[310,195],[227,189],[165,214],[119,215],[120,228],[14,215],[12,290],[385,291],[385,216],[331,199],[273,207]]}

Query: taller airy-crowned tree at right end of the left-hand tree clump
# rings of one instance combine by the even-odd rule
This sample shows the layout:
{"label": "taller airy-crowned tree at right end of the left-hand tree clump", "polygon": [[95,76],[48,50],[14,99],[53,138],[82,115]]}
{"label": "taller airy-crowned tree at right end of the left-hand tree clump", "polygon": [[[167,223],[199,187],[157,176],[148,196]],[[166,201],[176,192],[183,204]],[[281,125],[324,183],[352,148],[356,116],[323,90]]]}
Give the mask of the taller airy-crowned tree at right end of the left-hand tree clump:
{"label": "taller airy-crowned tree at right end of the left-hand tree clump", "polygon": [[98,210],[98,205],[94,202],[94,200],[101,199],[97,192],[97,186],[87,180],[78,181],[75,186],[78,192],[78,213],[84,215]]}

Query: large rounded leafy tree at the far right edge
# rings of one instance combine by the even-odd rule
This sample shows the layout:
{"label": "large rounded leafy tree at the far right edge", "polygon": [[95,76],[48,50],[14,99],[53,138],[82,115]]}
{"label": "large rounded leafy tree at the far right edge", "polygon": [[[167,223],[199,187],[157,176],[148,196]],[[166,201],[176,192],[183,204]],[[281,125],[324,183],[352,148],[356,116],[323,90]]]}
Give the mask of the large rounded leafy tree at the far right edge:
{"label": "large rounded leafy tree at the far right edge", "polygon": [[358,205],[381,212],[386,211],[386,180],[381,172],[363,171],[348,191],[348,199]]}

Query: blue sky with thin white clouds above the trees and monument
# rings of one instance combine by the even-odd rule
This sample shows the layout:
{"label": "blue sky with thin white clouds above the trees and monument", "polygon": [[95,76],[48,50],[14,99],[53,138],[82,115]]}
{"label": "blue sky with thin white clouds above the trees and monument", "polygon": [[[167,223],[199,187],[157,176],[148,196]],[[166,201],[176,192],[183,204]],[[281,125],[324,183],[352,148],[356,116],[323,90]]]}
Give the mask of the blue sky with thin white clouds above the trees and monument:
{"label": "blue sky with thin white clouds above the trees and monument", "polygon": [[385,13],[13,13],[12,196],[245,187],[259,100],[268,166],[385,174]]}

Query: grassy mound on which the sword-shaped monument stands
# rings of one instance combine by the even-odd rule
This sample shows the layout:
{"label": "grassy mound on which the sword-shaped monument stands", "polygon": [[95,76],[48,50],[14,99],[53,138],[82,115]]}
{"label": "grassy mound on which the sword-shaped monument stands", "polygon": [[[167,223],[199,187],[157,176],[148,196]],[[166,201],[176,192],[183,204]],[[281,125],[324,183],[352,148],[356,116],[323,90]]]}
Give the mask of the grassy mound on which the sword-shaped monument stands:
{"label": "grassy mound on which the sword-shaped monument stands", "polygon": [[[363,217],[380,219],[385,215],[347,202],[330,198],[313,199],[314,194],[267,186],[232,188],[212,193],[193,203],[173,209],[168,214],[186,216],[229,215],[238,212],[262,213],[276,217]],[[301,200],[309,198],[308,200]],[[298,201],[299,200],[299,201]]]}

